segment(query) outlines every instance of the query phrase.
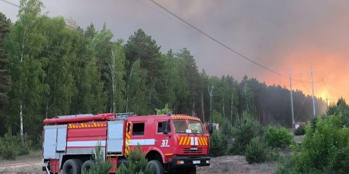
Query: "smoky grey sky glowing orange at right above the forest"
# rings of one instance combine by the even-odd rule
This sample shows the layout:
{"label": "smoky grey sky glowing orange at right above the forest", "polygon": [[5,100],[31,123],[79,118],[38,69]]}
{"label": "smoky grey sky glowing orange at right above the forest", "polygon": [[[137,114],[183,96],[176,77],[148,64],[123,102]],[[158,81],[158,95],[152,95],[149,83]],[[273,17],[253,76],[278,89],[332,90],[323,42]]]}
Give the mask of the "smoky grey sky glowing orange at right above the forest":
{"label": "smoky grey sky glowing orange at right above the forest", "polygon": [[[19,4],[17,0],[9,0]],[[175,19],[149,0],[139,0]],[[128,39],[139,28],[151,35],[161,51],[187,47],[199,71],[240,81],[246,74],[268,85],[289,88],[289,79],[273,74],[214,41],[172,21],[137,0],[43,0],[49,16],[72,16],[82,27],[107,23],[115,39]],[[349,1],[347,0],[156,0],[173,13],[251,60],[278,73],[310,71],[313,62],[315,95],[349,98]],[[217,6],[214,1],[222,8]],[[17,7],[0,1],[0,11],[16,20]],[[179,21],[178,19],[175,19]],[[285,75],[288,76],[288,75]],[[310,74],[292,78],[311,81]],[[322,82],[324,78],[325,84]],[[310,83],[292,81],[294,89],[311,94]]]}

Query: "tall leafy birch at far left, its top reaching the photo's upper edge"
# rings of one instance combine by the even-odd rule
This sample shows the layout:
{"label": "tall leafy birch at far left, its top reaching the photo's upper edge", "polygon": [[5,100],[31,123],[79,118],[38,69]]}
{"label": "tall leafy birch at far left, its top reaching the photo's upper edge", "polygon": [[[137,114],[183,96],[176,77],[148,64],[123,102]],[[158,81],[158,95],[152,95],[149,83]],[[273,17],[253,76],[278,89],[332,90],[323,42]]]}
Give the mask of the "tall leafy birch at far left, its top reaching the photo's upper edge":
{"label": "tall leafy birch at far left, its top reaching the photo's upper edge", "polygon": [[8,50],[9,69],[13,80],[11,92],[11,111],[19,117],[22,143],[24,126],[28,132],[35,130],[31,124],[38,117],[43,103],[43,93],[47,85],[43,84],[45,59],[39,57],[40,49],[46,43],[43,32],[43,17],[37,16],[44,7],[39,0],[21,0],[18,19],[12,27],[5,47]]}

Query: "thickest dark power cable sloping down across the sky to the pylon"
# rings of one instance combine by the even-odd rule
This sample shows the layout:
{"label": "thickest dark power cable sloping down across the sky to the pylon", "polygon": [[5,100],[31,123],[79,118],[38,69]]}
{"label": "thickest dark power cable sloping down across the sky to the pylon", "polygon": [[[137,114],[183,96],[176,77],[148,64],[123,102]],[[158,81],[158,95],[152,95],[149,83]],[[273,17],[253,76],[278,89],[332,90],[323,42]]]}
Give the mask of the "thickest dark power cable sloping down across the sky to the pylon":
{"label": "thickest dark power cable sloping down across the sky to the pylon", "polygon": [[[154,3],[155,5],[157,5],[158,7],[162,8],[163,10],[167,11],[168,13],[170,13],[171,15],[173,15],[174,17],[176,17],[176,18],[178,18],[179,20],[181,20],[182,22],[184,22],[184,23],[186,23],[187,25],[191,26],[191,27],[192,27],[193,29],[195,29],[196,31],[199,31],[200,33],[202,33],[203,35],[205,35],[207,38],[209,38],[209,39],[211,39],[211,40],[217,42],[218,44],[220,44],[220,45],[222,45],[223,47],[229,49],[230,51],[236,53],[237,55],[239,55],[239,56],[245,58],[246,60],[248,60],[248,61],[250,61],[250,62],[252,62],[252,63],[254,63],[254,64],[260,66],[261,68],[264,68],[264,69],[266,69],[266,70],[268,70],[268,71],[270,71],[270,72],[272,72],[272,73],[275,73],[275,74],[277,74],[277,75],[279,75],[279,76],[282,76],[282,77],[285,77],[285,78],[289,78],[289,77],[287,77],[287,76],[283,76],[282,74],[280,74],[280,73],[278,73],[278,72],[276,72],[276,71],[274,71],[274,70],[271,70],[271,69],[269,69],[269,68],[267,68],[267,67],[265,67],[265,66],[263,66],[263,65],[261,65],[261,64],[259,64],[259,63],[257,63],[257,62],[255,62],[255,61],[251,60],[250,58],[247,58],[246,56],[244,56],[244,55],[238,53],[236,50],[234,50],[234,49],[228,47],[227,45],[225,45],[225,44],[223,44],[222,42],[216,40],[215,38],[211,37],[211,36],[208,35],[207,33],[203,32],[203,31],[201,31],[200,29],[198,29],[197,27],[193,26],[192,24],[188,23],[187,21],[185,21],[185,20],[182,19],[181,17],[179,17],[179,16],[177,16],[176,14],[172,13],[170,10],[166,9],[165,7],[163,7],[162,5],[160,5],[159,3],[157,3],[156,1],[154,1],[154,0],[149,0],[149,1],[153,2],[153,3]],[[299,81],[299,80],[297,80],[297,79],[293,79],[293,80]],[[308,82],[308,83],[311,83],[311,82]]]}

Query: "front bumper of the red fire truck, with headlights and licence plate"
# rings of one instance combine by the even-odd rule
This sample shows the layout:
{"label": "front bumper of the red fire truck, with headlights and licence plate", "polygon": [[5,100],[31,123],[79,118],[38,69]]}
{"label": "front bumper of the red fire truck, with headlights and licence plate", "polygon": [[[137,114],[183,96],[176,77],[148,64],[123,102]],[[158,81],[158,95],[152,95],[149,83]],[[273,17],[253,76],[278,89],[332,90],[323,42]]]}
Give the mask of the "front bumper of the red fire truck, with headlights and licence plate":
{"label": "front bumper of the red fire truck, with headlights and licence plate", "polygon": [[[209,160],[210,160],[210,157],[208,156],[196,156],[196,157],[175,156],[172,158],[172,166],[173,167],[209,166],[210,163],[206,163]],[[178,164],[177,161],[183,161],[183,164]],[[200,163],[193,164],[193,161],[200,161]]]}

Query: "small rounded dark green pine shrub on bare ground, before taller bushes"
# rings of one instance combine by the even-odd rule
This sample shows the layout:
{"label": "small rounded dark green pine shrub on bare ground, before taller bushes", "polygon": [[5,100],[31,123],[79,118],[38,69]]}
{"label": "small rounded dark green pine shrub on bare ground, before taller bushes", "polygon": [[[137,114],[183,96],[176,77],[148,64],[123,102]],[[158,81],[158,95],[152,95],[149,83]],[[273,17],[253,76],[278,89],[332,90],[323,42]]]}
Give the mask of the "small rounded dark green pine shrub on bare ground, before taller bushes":
{"label": "small rounded dark green pine shrub on bare ground, before taller bushes", "polygon": [[248,164],[263,163],[267,159],[268,153],[268,145],[259,137],[255,137],[247,145],[245,158]]}

